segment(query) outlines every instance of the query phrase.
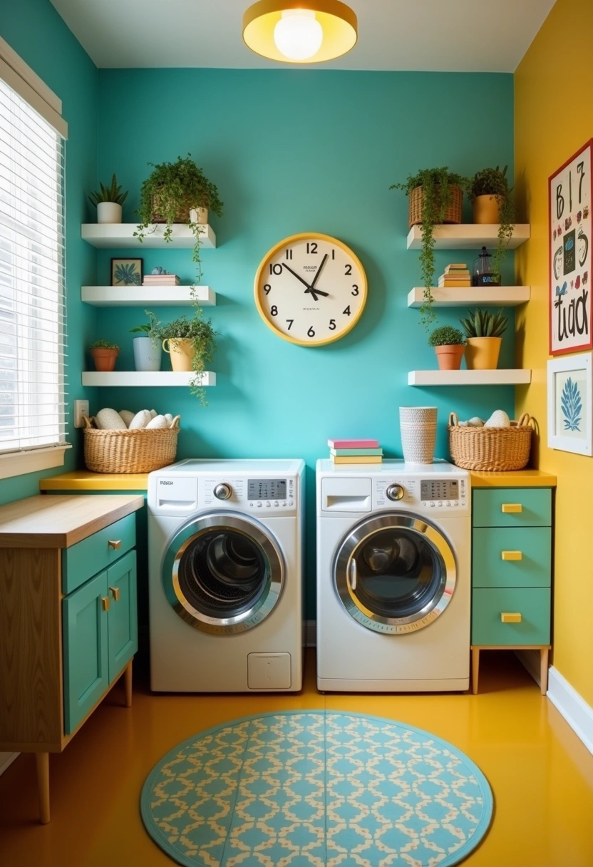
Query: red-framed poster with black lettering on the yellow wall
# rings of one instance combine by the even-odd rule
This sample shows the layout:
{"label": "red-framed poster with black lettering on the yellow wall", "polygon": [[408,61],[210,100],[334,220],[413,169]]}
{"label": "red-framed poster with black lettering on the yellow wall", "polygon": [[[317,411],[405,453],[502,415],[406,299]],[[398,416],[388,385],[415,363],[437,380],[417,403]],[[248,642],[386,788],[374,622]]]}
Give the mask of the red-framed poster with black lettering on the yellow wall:
{"label": "red-framed poster with black lettering on the yellow wall", "polygon": [[593,139],[548,179],[550,355],[593,349]]}

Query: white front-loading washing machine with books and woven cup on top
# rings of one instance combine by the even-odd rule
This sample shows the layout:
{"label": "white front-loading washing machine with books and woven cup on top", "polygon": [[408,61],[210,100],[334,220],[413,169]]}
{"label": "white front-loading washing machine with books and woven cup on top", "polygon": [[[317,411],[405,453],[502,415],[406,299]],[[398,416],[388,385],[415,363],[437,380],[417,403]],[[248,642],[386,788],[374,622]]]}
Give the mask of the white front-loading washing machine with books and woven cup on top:
{"label": "white front-loading washing machine with books and woven cup on top", "polygon": [[471,495],[465,470],[317,462],[317,687],[469,687]]}

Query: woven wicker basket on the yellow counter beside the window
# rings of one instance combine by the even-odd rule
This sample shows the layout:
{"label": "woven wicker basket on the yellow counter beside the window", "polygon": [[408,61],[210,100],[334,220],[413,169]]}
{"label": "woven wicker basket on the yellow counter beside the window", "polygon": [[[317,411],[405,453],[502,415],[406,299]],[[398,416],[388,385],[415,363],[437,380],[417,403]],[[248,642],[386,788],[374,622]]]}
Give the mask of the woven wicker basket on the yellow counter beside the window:
{"label": "woven wicker basket on the yellow counter beside the window", "polygon": [[93,473],[152,473],[173,464],[179,418],[154,430],[101,431],[84,416],[84,462]]}

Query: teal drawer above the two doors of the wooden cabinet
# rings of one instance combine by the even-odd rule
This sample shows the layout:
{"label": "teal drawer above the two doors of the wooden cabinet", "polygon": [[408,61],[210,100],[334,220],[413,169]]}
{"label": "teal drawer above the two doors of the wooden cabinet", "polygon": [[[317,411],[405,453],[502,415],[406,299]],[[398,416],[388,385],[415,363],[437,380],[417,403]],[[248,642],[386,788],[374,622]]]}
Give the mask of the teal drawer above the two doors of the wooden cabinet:
{"label": "teal drawer above the two doors of the wooden cabinet", "polygon": [[133,513],[66,548],[62,551],[62,592],[71,593],[119,560],[135,544],[136,516]]}

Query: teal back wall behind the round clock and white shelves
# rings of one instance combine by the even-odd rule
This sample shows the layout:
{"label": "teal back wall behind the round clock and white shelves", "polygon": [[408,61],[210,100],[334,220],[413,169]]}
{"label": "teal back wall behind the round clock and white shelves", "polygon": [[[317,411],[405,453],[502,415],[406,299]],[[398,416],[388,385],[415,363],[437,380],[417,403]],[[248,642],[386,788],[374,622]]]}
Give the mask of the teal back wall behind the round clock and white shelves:
{"label": "teal back wall behind the round clock and white shelves", "polygon": [[[435,359],[418,311],[406,306],[408,290],[420,280],[417,254],[406,251],[407,199],[388,190],[420,166],[448,165],[460,173],[512,166],[512,114],[512,75],[100,72],[99,175],[108,179],[116,172],[129,188],[124,221],[135,218],[147,163],[188,151],[225,201],[224,218],[212,219],[218,249],[203,253],[203,282],[218,293],[218,306],[208,315],[220,332],[210,406],[200,408],[185,390],[148,388],[102,390],[101,405],[180,413],[179,457],[303,457],[309,467],[310,589],[314,467],[328,452],[329,436],[377,437],[388,456],[400,456],[398,407],[430,403],[439,407],[437,453],[446,457],[450,410],[461,417],[487,417],[498,407],[512,413],[513,388],[407,386],[409,369],[433,368]],[[368,274],[361,322],[320,349],[283,342],[253,303],[257,264],[272,244],[298,231],[342,238]],[[141,255],[147,270],[161,264],[184,282],[192,279],[188,251]],[[99,255],[100,284],[109,282],[110,256]],[[473,256],[461,259],[471,262]],[[450,260],[451,253],[437,254],[438,268]],[[512,261],[506,277],[512,282]],[[455,323],[458,316],[444,313],[440,321]],[[142,319],[140,309],[98,313],[94,337],[120,343],[121,369],[133,368],[127,329]],[[507,367],[512,332],[511,326],[501,360]]]}

